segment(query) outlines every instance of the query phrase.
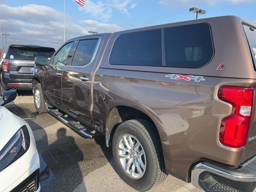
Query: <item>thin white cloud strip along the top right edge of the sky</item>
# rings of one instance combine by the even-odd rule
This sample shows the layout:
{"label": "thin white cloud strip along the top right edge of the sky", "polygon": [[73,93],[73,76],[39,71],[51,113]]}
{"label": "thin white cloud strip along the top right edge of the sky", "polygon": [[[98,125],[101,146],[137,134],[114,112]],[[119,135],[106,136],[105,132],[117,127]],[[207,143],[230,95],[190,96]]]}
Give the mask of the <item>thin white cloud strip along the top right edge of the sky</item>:
{"label": "thin white cloud strip along the top right edge of the sky", "polygon": [[208,4],[210,6],[215,6],[221,2],[230,2],[232,4],[240,3],[255,3],[255,0],[160,0],[158,1],[160,5],[164,7],[183,7],[183,6],[194,6],[196,4]]}

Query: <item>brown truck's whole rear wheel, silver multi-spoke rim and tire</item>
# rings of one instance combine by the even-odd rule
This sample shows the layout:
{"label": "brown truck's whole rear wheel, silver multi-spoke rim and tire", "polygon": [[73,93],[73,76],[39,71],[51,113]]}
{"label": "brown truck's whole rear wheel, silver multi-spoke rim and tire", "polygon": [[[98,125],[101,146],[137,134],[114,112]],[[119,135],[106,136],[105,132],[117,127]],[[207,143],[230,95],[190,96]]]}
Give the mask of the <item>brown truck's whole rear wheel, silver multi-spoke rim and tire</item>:
{"label": "brown truck's whole rear wheel, silver multi-spoke rim and tire", "polygon": [[138,191],[156,187],[167,176],[158,132],[147,120],[121,123],[114,134],[112,152],[120,177]]}

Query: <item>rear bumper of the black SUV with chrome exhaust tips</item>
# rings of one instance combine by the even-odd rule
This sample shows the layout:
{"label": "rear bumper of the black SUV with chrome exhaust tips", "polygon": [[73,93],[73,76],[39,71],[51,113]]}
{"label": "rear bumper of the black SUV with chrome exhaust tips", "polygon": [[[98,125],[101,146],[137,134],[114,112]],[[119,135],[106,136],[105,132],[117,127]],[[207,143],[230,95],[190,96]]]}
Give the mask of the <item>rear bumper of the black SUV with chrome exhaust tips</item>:
{"label": "rear bumper of the black SUV with chrome exhaust tips", "polygon": [[2,88],[9,90],[10,88],[17,88],[18,90],[32,90],[32,79],[11,79],[10,74],[2,73],[1,78]]}

